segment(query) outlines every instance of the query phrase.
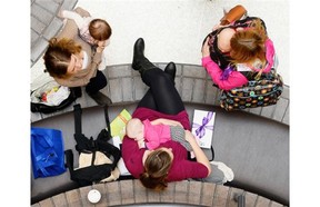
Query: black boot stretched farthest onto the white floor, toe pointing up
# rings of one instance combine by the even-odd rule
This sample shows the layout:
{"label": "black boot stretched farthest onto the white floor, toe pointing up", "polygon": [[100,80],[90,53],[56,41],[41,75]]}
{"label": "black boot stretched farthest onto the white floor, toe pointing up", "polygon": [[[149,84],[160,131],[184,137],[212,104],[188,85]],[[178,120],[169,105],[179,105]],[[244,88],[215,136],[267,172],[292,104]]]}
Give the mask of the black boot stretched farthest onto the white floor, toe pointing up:
{"label": "black boot stretched farthest onto the white floor, toe pointing up", "polygon": [[139,38],[134,43],[132,68],[133,70],[139,70],[141,75],[146,70],[157,68],[144,57],[144,40],[142,38]]}

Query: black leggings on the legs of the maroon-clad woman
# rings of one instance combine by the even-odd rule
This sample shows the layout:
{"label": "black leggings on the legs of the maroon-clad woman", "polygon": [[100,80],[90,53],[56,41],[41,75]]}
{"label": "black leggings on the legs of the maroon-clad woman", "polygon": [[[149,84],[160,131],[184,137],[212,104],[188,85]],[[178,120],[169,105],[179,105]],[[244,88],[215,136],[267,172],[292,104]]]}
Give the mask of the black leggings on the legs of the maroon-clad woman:
{"label": "black leggings on the legs of the maroon-clad woman", "polygon": [[163,70],[159,68],[149,69],[143,72],[141,78],[150,89],[137,108],[146,107],[166,115],[178,115],[184,110],[184,105],[174,83]]}

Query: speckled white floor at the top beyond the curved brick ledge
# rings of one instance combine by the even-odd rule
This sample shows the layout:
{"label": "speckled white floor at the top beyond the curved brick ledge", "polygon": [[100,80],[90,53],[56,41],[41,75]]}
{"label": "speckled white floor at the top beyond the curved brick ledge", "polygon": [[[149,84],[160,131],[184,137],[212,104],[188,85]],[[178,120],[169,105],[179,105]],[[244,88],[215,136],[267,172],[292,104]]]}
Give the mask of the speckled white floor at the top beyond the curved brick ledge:
{"label": "speckled white floor at the top beyond the curved brick ledge", "polygon": [[[132,46],[140,37],[144,38],[146,53],[153,62],[201,65],[203,38],[219,22],[223,9],[239,3],[247,8],[249,16],[264,20],[279,57],[278,71],[290,86],[288,0],[259,3],[256,0],[79,0],[76,7],[106,19],[112,27],[104,52],[108,66],[130,63]],[[31,81],[42,70],[40,59],[32,67]]]}

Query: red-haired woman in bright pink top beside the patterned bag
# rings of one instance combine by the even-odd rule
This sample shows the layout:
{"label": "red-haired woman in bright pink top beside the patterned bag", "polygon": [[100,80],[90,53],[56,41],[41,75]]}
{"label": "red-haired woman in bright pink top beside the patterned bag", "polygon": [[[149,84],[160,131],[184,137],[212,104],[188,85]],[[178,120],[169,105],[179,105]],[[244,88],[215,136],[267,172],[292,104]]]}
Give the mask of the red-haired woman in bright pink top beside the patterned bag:
{"label": "red-haired woman in bright pink top beside the patterned bag", "polygon": [[202,66],[220,89],[241,87],[270,72],[274,47],[260,18],[248,17],[217,26],[202,45]]}

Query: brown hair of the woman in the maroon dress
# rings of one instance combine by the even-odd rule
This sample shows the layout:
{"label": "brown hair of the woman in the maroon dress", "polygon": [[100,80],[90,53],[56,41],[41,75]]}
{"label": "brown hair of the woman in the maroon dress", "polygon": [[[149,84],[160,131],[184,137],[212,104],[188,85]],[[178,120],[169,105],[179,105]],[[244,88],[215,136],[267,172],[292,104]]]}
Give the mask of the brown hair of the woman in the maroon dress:
{"label": "brown hair of the woman in the maroon dress", "polygon": [[170,155],[161,149],[151,151],[144,162],[144,172],[140,175],[140,181],[146,188],[161,191],[168,186],[167,176],[172,160]]}

